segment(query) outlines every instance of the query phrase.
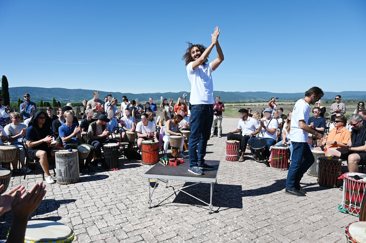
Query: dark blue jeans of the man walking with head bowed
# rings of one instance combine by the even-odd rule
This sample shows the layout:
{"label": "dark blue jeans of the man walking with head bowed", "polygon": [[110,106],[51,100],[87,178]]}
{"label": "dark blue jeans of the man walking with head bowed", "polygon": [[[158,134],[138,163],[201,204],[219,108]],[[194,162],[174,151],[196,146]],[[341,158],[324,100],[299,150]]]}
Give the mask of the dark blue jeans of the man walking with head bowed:
{"label": "dark blue jeans of the man walking with head bowed", "polygon": [[300,180],[304,173],[310,168],[314,163],[314,156],[311,153],[309,144],[291,142],[292,151],[292,161],[290,168],[287,172],[286,189],[294,190],[295,185],[300,185]]}

